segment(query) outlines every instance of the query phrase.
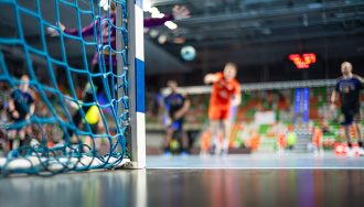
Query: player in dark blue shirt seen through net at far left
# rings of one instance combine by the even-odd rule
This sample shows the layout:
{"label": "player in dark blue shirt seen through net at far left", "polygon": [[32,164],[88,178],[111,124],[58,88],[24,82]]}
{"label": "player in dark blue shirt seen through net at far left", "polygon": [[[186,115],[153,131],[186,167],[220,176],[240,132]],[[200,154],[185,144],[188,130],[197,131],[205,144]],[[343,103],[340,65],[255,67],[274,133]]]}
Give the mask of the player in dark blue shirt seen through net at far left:
{"label": "player in dark blue shirt seen through net at far left", "polygon": [[[34,113],[34,99],[29,89],[29,77],[21,76],[19,89],[14,89],[10,95],[9,100],[9,117],[11,121],[17,124],[30,119]],[[9,148],[12,150],[15,137],[19,138],[19,146],[24,145],[25,128],[17,128],[9,130]]]}

